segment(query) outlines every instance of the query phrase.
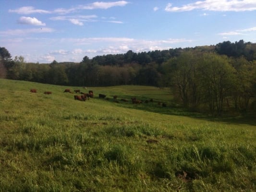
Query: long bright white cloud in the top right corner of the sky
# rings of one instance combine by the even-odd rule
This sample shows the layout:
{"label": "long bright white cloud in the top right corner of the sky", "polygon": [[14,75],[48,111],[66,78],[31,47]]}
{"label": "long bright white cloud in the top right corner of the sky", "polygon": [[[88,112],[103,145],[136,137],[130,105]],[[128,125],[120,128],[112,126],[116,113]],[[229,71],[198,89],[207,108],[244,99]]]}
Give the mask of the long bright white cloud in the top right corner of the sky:
{"label": "long bright white cloud in the top right corner of the sky", "polygon": [[256,0],[204,0],[189,3],[181,7],[172,7],[171,3],[165,8],[166,12],[185,12],[195,9],[218,12],[244,12],[256,10]]}

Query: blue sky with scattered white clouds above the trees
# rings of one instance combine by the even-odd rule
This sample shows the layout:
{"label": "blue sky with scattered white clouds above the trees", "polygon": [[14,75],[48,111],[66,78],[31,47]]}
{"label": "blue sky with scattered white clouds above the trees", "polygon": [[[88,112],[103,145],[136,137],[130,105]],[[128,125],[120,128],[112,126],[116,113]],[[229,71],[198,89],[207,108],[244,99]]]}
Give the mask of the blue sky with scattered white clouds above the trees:
{"label": "blue sky with scattered white clouds above the trees", "polygon": [[26,62],[256,43],[256,0],[0,0],[0,47]]}

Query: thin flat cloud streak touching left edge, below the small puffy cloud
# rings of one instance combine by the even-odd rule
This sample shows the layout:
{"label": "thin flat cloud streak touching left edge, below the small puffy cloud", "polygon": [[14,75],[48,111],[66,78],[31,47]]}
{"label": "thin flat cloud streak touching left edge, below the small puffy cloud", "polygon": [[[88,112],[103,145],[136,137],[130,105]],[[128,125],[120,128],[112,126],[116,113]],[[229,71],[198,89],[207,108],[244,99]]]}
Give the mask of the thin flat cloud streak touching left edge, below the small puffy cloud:
{"label": "thin flat cloud streak touching left edge, below the small puffy cloud", "polygon": [[26,35],[30,33],[51,33],[55,30],[52,28],[32,28],[32,29],[10,29],[7,31],[0,31],[0,36],[20,36],[20,35]]}

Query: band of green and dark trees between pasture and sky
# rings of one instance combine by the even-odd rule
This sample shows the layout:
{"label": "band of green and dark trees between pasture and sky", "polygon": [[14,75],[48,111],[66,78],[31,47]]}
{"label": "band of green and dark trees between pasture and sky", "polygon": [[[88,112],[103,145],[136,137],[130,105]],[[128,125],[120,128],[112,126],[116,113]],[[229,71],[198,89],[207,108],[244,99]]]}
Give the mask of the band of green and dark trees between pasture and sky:
{"label": "band of green and dark trees between pasture and sky", "polygon": [[256,110],[256,44],[240,40],[215,46],[87,56],[80,63],[27,63],[0,48],[0,77],[46,84],[171,87],[184,108],[221,115]]}

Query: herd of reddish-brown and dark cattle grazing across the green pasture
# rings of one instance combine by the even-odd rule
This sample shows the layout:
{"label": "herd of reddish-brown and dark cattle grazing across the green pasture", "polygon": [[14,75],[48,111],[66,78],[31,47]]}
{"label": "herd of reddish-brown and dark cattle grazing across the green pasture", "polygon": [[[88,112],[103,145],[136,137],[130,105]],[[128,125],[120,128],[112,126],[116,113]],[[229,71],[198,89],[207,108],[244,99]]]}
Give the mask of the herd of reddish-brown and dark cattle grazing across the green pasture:
{"label": "herd of reddish-brown and dark cattle grazing across the green pasture", "polygon": [[[30,89],[30,92],[37,93],[37,89]],[[78,93],[80,95],[74,95],[74,100],[79,100],[79,101],[86,101],[86,100],[89,100],[89,98],[93,98],[93,91],[91,91],[91,90],[88,93],[84,93],[84,92],[81,92],[80,89],[75,89],[73,92],[70,89],[65,89],[63,93],[75,93],[75,94]],[[49,94],[52,94],[52,92],[45,91],[44,94],[49,95]],[[98,97],[106,98],[106,95],[98,94]],[[106,99],[109,100],[109,98],[106,98]],[[114,100],[114,102],[119,103],[119,101],[117,100],[117,96],[113,96],[113,100]],[[129,100],[121,98],[120,101],[128,102]],[[153,99],[139,100],[139,99],[136,99],[136,97],[132,97],[131,101],[133,104],[149,103],[149,102],[153,103],[154,102]],[[158,102],[158,105],[161,105],[162,107],[167,107],[166,103]]]}

